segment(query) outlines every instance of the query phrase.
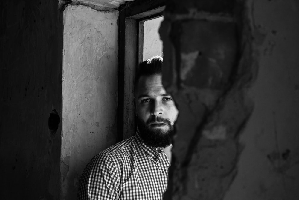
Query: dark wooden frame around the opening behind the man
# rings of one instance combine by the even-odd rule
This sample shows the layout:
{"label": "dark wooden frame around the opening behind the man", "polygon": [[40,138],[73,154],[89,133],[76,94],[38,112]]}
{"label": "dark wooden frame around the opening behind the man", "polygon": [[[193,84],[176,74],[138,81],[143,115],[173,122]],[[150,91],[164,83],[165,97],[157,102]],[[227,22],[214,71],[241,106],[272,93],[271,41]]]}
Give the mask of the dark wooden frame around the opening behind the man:
{"label": "dark wooden frame around the opening behind the man", "polygon": [[135,134],[135,68],[143,61],[143,22],[163,16],[165,0],[130,1],[118,18],[118,131],[117,142]]}

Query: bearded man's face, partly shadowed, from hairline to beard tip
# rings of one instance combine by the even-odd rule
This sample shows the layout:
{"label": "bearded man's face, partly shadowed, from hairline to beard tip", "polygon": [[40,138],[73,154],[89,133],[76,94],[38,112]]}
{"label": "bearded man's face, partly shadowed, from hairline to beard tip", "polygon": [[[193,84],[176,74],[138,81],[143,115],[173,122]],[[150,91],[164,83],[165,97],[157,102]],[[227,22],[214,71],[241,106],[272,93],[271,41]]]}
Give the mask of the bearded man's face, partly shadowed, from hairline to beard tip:
{"label": "bearded man's face, partly shadowed, from hairline to beard tip", "polygon": [[141,76],[136,85],[135,98],[141,138],[154,147],[170,145],[170,134],[179,111],[162,85],[162,76]]}

